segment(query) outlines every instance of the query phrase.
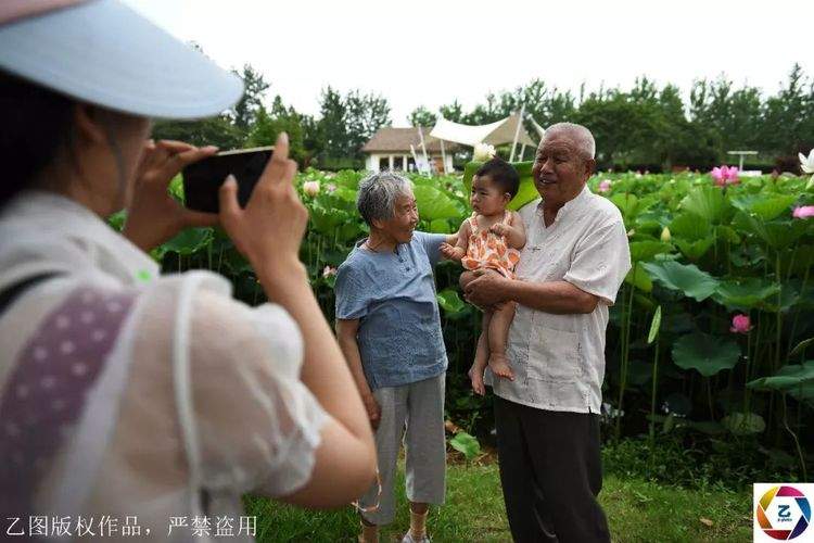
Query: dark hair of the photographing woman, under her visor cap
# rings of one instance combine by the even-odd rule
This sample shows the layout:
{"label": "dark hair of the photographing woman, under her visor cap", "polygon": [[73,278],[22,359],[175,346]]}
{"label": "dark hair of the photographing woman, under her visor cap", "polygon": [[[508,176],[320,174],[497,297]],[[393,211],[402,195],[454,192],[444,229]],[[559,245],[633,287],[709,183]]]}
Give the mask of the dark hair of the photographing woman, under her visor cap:
{"label": "dark hair of the photographing woman, under her visor cap", "polygon": [[0,209],[69,142],[76,102],[52,90],[0,72]]}

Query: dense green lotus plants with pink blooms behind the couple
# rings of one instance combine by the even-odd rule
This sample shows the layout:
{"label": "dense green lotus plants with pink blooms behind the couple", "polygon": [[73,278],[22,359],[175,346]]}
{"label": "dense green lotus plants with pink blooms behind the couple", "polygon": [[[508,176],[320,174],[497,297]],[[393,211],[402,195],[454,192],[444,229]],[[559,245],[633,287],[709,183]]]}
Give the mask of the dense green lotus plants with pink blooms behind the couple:
{"label": "dense green lotus plants with pink blooms behind the couple", "polygon": [[[456,231],[470,214],[473,165],[461,176],[410,176],[419,229]],[[530,163],[514,206],[534,197]],[[354,242],[366,233],[356,213],[364,173],[301,173],[310,212],[302,248],[329,320],[333,283]],[[603,433],[656,445],[730,450],[807,479],[814,456],[814,190],[807,177],[722,178],[721,173],[599,174],[588,185],[621,211],[634,267],[611,308]],[[171,189],[179,198],[181,184]],[[115,222],[119,222],[120,217]],[[265,296],[249,263],[218,229],[181,232],[153,256],[166,270],[207,268],[229,277],[250,304]],[[462,301],[460,268],[436,270],[449,355],[447,415],[451,445],[478,454],[489,439],[489,399],[469,391],[480,316]],[[735,445],[733,445],[735,444]],[[756,455],[756,456],[755,456]],[[737,454],[735,454],[737,457]],[[806,472],[806,467],[809,470]]]}

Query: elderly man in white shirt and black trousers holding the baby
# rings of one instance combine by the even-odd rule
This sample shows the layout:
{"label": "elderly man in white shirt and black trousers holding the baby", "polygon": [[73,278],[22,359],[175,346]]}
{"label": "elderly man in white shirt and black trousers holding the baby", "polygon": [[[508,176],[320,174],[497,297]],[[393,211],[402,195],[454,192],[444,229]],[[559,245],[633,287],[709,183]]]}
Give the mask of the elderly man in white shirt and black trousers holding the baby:
{"label": "elderly man in white shirt and black trousers holding the baby", "polygon": [[514,541],[609,541],[597,495],[605,331],[631,255],[622,216],[586,181],[595,143],[580,125],[551,126],[532,169],[542,201],[520,211],[527,242],[518,280],[475,272],[461,283],[482,307],[517,303],[494,381],[500,482]]}

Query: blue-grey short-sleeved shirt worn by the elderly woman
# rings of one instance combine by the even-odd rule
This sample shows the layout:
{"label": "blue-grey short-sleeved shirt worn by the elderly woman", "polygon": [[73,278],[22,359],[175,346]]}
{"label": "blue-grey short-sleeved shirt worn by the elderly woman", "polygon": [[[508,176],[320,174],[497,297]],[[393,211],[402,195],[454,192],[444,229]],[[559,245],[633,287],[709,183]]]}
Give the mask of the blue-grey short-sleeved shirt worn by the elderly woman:
{"label": "blue-grey short-sleeved shirt worn by the elderly woman", "polygon": [[336,272],[336,318],[359,319],[356,339],[373,390],[446,370],[433,276],[445,239],[416,231],[394,253],[377,253],[359,242]]}

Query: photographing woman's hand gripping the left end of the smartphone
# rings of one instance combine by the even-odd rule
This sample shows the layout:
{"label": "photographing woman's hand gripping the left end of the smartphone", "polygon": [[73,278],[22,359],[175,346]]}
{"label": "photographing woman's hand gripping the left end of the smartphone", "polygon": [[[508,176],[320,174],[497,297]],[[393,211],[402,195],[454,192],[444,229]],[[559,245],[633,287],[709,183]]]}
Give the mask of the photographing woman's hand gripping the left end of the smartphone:
{"label": "photographing woman's hand gripping the left end of the smartphone", "polygon": [[216,225],[217,215],[188,210],[167,192],[169,182],[185,166],[216,152],[216,147],[149,141],[136,171],[124,236],[148,252],[185,228]]}

